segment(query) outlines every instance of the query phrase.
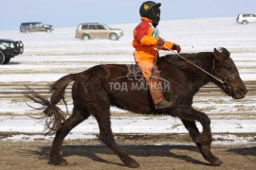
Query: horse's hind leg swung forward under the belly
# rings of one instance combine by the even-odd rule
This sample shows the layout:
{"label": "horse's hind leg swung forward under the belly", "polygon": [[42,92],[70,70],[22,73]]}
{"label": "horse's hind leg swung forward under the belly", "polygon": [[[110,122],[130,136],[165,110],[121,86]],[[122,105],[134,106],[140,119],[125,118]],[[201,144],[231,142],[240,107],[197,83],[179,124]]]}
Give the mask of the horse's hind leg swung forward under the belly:
{"label": "horse's hind leg swung forward under the belly", "polygon": [[118,156],[119,159],[127,166],[136,168],[139,166],[137,161],[132,159],[126,152],[119,148],[116,144],[112,129],[110,126],[110,113],[109,110],[94,110],[93,114],[98,121],[100,128],[101,141],[111,148]]}

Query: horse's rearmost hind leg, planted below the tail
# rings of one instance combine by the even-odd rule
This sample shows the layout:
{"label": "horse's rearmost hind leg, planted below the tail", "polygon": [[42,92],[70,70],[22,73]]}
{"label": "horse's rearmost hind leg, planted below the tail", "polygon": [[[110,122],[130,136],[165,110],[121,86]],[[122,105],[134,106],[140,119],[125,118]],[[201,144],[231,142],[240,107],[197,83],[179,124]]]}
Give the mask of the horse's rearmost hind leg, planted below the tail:
{"label": "horse's rearmost hind leg, planted below the tail", "polygon": [[63,126],[57,130],[54,141],[50,150],[50,162],[54,165],[66,165],[65,161],[61,156],[61,148],[64,142],[64,137],[69,133],[69,131],[79,125],[84,119],[88,118],[89,114],[76,110],[74,108],[72,115],[66,119]]}

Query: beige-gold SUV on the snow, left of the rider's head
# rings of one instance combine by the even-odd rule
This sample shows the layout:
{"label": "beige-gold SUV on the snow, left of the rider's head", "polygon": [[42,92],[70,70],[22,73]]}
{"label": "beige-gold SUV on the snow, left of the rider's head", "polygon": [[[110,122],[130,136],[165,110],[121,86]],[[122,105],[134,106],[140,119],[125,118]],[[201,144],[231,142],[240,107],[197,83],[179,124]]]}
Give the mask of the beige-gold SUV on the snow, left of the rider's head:
{"label": "beige-gold SUV on the snow, left of the rider's head", "polygon": [[83,41],[90,39],[110,39],[118,41],[123,32],[118,28],[111,28],[100,23],[82,23],[77,27],[76,38]]}

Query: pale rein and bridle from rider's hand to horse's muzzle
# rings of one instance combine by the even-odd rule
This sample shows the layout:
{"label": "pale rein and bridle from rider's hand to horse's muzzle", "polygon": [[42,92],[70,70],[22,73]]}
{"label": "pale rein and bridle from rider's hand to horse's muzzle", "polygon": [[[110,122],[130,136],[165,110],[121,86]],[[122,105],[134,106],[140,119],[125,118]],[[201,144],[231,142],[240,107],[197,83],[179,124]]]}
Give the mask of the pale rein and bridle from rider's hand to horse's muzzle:
{"label": "pale rein and bridle from rider's hand to horse's muzzle", "polygon": [[[172,51],[172,52],[174,53],[174,51],[171,50],[170,48],[168,48],[167,46],[164,46],[164,47],[165,47],[166,49],[168,49],[169,51]],[[222,75],[220,75],[220,74],[218,74],[218,73],[216,72],[216,70],[215,70],[215,59],[213,59],[213,66],[212,66],[212,68],[211,68],[211,74],[210,74],[210,73],[208,73],[206,70],[204,70],[204,69],[202,69],[201,67],[199,67],[198,65],[194,64],[194,63],[193,63],[192,61],[190,61],[189,59],[186,59],[186,58],[184,58],[183,56],[181,56],[181,55],[179,55],[179,54],[177,54],[177,53],[175,53],[175,55],[177,55],[177,56],[180,57],[181,59],[185,59],[186,61],[188,61],[189,63],[191,63],[194,67],[198,68],[199,70],[201,70],[201,71],[204,72],[205,74],[207,74],[207,75],[213,77],[214,79],[216,79],[218,82],[220,82],[220,83],[223,85],[223,87],[224,87],[225,89],[226,89],[226,88],[231,89],[230,86],[229,86],[229,83],[227,82],[227,79],[229,78],[229,76],[228,76],[228,77],[222,76]],[[224,80],[222,80],[222,79],[220,79],[220,78],[218,78],[218,77],[216,77],[216,76],[213,76],[213,75],[212,75],[213,72],[215,73],[215,75],[223,77]],[[232,74],[232,75],[230,75],[230,76],[234,76],[234,75],[236,75],[236,74],[238,74],[238,73],[234,73],[234,74]]]}

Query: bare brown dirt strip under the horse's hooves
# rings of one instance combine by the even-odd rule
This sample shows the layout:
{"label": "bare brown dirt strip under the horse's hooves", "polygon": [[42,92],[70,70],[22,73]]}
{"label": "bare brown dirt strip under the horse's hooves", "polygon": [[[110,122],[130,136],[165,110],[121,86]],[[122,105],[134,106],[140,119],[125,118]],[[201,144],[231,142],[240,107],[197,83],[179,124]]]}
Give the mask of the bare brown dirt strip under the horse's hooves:
{"label": "bare brown dirt strip under the horse's hooves", "polygon": [[[179,135],[180,136],[180,135]],[[194,144],[154,144],[161,140],[188,141],[187,135],[117,137],[121,148],[139,162],[137,169],[216,169],[205,161]],[[177,139],[180,138],[180,139]],[[139,140],[140,139],[140,140]],[[146,143],[148,144],[146,144]],[[151,143],[151,144],[150,144]],[[130,169],[107,146],[97,140],[65,141],[63,156],[67,166],[49,164],[51,142],[0,141],[1,170],[6,169]],[[224,163],[218,169],[255,169],[256,146],[212,146]]]}

